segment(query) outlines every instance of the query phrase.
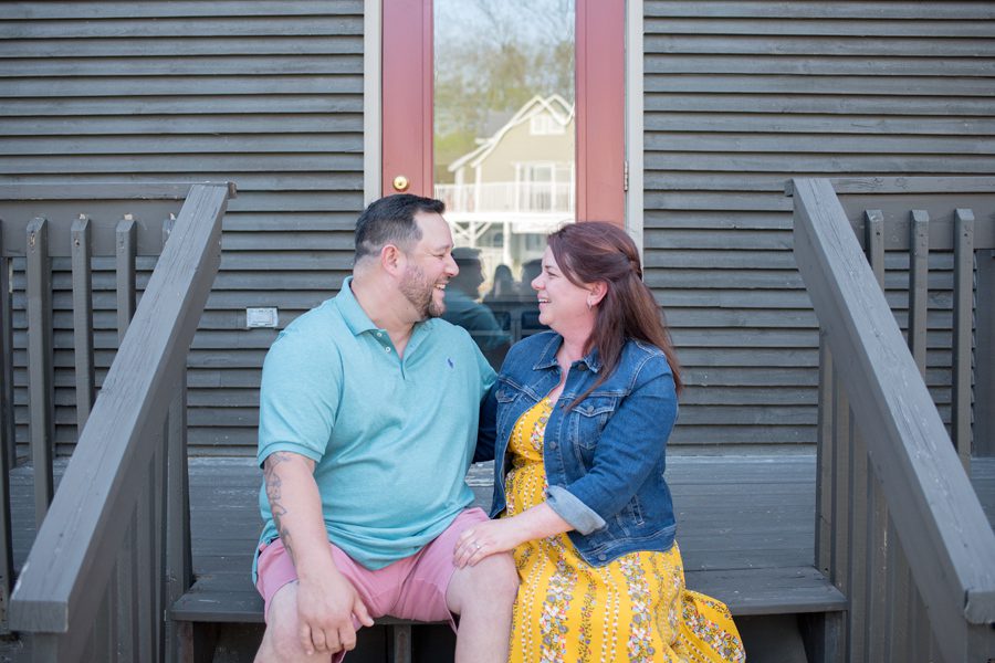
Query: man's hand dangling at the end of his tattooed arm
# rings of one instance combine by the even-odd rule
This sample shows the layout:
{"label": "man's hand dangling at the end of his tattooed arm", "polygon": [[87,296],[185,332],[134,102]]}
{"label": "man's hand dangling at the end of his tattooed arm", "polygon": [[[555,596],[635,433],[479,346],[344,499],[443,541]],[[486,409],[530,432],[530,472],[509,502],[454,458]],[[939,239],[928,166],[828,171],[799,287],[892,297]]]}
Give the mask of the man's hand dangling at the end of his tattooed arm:
{"label": "man's hand dangling at the end of his tattooed arm", "polygon": [[334,654],[356,648],[356,623],[371,627],[373,619],[353,585],[333,569],[314,579],[297,581],[301,644],[307,655]]}

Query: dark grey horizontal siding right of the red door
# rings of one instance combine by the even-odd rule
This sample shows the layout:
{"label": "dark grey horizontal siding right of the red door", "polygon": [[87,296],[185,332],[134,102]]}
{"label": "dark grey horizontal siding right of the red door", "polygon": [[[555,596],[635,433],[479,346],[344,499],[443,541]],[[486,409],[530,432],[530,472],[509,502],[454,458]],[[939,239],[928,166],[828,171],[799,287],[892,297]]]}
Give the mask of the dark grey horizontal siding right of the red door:
{"label": "dark grey horizontal siding right of the red door", "polygon": [[[677,444],[815,441],[817,320],[793,176],[995,173],[995,4],[643,4],[647,282],[689,382]],[[950,255],[931,257],[928,382],[950,406]],[[904,326],[908,260],[888,256]]]}

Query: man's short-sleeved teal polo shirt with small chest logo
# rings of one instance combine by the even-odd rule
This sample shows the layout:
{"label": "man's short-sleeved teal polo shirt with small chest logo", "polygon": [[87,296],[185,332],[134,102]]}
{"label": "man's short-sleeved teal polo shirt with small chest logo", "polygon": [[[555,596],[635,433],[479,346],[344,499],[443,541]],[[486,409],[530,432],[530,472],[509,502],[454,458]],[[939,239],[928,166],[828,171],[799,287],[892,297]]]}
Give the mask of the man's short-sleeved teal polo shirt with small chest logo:
{"label": "man's short-sleeved teal polo shirt with small chest logo", "polygon": [[[313,460],[328,539],[378,569],[420,550],[473,502],[465,474],[495,376],[470,335],[438,318],[415,326],[399,359],[350,282],[266,354],[256,459]],[[268,541],[276,529],[265,485],[259,506]]]}

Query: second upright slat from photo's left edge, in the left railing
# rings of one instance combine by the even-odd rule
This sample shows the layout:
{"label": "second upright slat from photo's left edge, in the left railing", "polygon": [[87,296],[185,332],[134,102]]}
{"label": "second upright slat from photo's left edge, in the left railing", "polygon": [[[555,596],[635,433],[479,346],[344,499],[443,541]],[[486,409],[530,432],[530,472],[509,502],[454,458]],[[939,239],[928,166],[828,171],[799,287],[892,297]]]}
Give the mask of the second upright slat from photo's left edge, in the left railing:
{"label": "second upright slat from photo's left edge, in the left railing", "polygon": [[38,526],[52,502],[54,385],[52,370],[52,266],[48,221],[28,224],[28,393],[31,456],[34,463],[34,519]]}

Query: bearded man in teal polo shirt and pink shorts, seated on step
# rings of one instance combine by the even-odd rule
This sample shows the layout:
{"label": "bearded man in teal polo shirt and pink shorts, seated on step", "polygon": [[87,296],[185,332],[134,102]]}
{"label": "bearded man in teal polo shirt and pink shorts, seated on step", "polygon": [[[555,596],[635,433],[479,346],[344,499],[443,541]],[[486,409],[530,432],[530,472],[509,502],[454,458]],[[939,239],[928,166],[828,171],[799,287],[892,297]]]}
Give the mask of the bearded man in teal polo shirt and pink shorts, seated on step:
{"label": "bearded man in teal polo shirt and pink shorts, seated on step", "polygon": [[464,475],[494,371],[438,319],[459,271],[443,210],[409,194],[370,204],[353,276],[266,355],[256,661],[339,661],[371,618],[455,628],[453,613],[458,662],[506,660],[511,557],[452,562],[460,533],[485,519],[467,509]]}

